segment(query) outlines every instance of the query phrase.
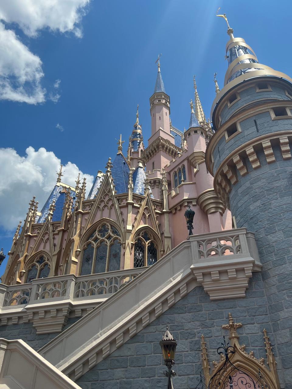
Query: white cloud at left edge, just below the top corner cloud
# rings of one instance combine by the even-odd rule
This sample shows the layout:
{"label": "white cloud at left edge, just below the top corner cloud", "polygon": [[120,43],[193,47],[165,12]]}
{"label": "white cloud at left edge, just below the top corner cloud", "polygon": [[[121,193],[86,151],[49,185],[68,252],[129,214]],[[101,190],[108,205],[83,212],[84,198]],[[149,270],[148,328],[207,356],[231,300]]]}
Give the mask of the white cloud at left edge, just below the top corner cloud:
{"label": "white cloud at left edge, just below the top corner cloud", "polygon": [[0,99],[44,102],[46,90],[40,85],[43,76],[40,58],[0,22]]}

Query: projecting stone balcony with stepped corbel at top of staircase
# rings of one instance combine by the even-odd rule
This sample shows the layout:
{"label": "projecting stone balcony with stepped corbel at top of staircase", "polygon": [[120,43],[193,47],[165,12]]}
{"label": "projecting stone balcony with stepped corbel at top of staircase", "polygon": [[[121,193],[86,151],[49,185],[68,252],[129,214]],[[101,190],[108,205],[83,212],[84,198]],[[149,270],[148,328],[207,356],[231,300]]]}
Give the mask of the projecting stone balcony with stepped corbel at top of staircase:
{"label": "projecting stone balcony with stepped corbel at top of staircase", "polygon": [[252,273],[262,268],[253,233],[238,228],[210,235],[190,237],[197,282],[211,300],[245,297]]}

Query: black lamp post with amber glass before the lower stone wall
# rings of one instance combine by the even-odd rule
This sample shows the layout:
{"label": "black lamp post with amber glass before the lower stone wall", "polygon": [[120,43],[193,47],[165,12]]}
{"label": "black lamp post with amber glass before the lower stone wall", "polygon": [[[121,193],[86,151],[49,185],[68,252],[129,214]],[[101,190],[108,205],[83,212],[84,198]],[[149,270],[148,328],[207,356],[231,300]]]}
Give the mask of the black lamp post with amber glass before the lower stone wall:
{"label": "black lamp post with amber glass before the lower stone wall", "polygon": [[172,334],[169,332],[168,327],[166,326],[165,334],[159,342],[161,349],[162,349],[162,355],[164,357],[164,363],[167,367],[167,371],[164,371],[164,375],[168,377],[168,384],[167,389],[174,389],[172,384],[172,378],[176,376],[176,372],[171,369],[171,367],[174,365],[174,356],[176,354],[176,340],[174,340]]}

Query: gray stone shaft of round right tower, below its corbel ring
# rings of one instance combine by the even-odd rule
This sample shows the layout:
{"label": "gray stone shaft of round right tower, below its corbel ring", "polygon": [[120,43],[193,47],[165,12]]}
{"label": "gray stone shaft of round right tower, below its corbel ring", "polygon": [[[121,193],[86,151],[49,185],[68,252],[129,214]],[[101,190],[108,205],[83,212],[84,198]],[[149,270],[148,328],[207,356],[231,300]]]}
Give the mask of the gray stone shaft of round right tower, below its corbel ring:
{"label": "gray stone shaft of round right tower, below its corbel ring", "polygon": [[246,160],[249,173],[237,172],[229,199],[237,227],[255,233],[276,348],[292,383],[292,161],[273,150],[277,161],[269,165],[258,153],[259,169]]}

